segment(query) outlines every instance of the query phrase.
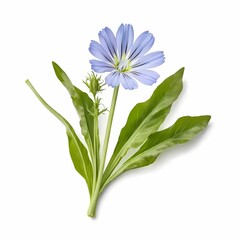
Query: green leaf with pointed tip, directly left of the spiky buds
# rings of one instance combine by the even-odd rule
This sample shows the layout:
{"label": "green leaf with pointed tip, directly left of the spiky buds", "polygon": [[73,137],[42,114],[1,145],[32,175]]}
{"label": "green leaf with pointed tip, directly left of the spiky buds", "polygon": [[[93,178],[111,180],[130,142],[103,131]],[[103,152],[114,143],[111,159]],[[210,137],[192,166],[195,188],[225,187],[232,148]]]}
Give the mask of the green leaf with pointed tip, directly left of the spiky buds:
{"label": "green leaf with pointed tip, directly left of the spiky buds", "polygon": [[75,87],[67,74],[57,65],[55,62],[52,62],[54,71],[56,73],[57,78],[60,82],[65,86],[68,90],[73,105],[79,115],[80,118],[80,126],[82,130],[82,134],[85,138],[85,141],[88,145],[88,149],[93,158],[93,146],[94,146],[94,102],[88,96],[87,93],[81,91],[77,87]]}

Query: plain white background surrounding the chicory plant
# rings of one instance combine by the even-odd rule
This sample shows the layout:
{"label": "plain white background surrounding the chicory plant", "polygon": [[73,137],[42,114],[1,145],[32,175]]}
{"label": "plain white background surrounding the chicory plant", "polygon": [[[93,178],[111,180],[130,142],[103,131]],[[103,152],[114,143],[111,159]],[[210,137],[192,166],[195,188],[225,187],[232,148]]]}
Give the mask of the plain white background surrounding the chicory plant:
{"label": "plain white background surrounding the chicory plant", "polygon": [[[0,239],[240,239],[238,1],[0,1]],[[65,129],[38,102],[29,78],[78,127],[54,60],[72,81],[90,71],[90,40],[131,23],[164,50],[161,78],[185,66],[184,91],[164,123],[211,114],[191,143],[120,177],[97,218],[69,157]],[[131,108],[156,88],[120,89],[109,155]],[[112,89],[102,96],[109,106]],[[101,119],[104,129],[106,117]]]}

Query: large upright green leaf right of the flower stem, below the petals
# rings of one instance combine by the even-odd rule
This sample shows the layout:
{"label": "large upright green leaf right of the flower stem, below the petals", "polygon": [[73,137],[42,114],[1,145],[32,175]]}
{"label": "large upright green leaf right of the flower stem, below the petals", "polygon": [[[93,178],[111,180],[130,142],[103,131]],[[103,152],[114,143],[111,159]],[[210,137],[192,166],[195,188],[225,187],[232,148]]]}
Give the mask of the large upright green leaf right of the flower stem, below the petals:
{"label": "large upright green leaf right of the flower stem, below the petals", "polygon": [[139,103],[132,109],[104,172],[102,184],[130,148],[139,147],[150,134],[158,130],[173,102],[182,91],[183,72],[184,68],[181,68],[174,75],[168,77],[156,88],[146,102]]}

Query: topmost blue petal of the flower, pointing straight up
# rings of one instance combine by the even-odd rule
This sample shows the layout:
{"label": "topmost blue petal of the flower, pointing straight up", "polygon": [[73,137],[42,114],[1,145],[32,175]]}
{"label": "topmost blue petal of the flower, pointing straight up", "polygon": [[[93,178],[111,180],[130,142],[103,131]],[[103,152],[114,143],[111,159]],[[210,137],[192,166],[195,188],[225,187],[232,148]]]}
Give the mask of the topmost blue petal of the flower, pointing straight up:
{"label": "topmost blue petal of the flower, pointing straight up", "polygon": [[123,55],[127,55],[128,51],[132,47],[134,39],[134,31],[131,24],[121,24],[117,31],[117,47],[118,57],[122,58]]}

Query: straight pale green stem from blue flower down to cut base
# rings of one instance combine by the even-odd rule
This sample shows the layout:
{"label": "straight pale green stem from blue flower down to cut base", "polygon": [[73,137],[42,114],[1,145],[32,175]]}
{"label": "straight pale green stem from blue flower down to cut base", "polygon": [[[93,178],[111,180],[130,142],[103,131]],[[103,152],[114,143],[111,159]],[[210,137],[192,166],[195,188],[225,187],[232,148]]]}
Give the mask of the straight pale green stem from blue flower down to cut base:
{"label": "straight pale green stem from blue flower down to cut base", "polygon": [[97,183],[96,183],[95,188],[93,189],[93,194],[91,196],[90,205],[89,205],[89,209],[88,209],[89,217],[95,216],[97,201],[98,201],[100,188],[101,188],[102,175],[103,175],[106,156],[107,156],[108,143],[109,143],[109,138],[110,138],[110,133],[111,133],[111,128],[112,128],[112,121],[113,121],[114,111],[115,111],[116,102],[117,102],[118,90],[119,90],[119,86],[114,88],[112,103],[111,103],[111,107],[110,107],[107,128],[106,128],[106,133],[105,133],[105,138],[104,138],[103,152],[102,152],[99,171],[98,171]]}

